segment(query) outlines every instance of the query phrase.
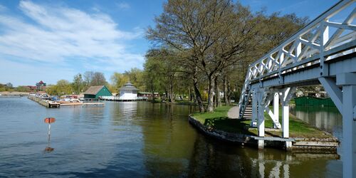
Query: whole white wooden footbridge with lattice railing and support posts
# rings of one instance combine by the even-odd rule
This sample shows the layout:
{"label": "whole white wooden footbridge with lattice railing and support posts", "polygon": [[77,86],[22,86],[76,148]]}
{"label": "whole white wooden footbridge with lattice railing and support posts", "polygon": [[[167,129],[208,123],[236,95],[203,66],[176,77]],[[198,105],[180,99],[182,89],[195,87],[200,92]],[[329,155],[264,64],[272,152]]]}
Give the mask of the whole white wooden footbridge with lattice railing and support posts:
{"label": "whole white wooden footbridge with lattice railing and support posts", "polygon": [[[239,118],[248,114],[264,137],[266,111],[289,137],[289,101],[295,87],[322,84],[342,114],[343,176],[356,177],[356,3],[340,1],[248,66],[239,100]],[[283,26],[276,26],[283,28]],[[268,105],[273,102],[273,110]],[[282,107],[282,123],[278,107]],[[246,112],[245,112],[246,111]],[[263,140],[258,141],[263,147]],[[290,147],[291,142],[286,142]]]}

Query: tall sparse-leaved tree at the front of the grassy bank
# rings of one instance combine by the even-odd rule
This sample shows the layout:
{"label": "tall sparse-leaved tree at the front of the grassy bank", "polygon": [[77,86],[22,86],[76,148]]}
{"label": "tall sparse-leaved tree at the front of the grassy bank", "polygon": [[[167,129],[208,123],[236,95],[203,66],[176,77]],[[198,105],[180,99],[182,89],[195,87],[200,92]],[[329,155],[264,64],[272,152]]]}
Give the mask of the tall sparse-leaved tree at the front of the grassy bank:
{"label": "tall sparse-leaved tree at the front of the grassy bank", "polygon": [[[185,63],[201,70],[209,81],[207,111],[214,109],[215,78],[223,68],[234,65],[244,51],[255,43],[251,36],[258,32],[257,21],[247,8],[228,0],[172,0],[148,28],[148,38],[178,51],[189,51]],[[198,70],[197,69],[197,70]]]}

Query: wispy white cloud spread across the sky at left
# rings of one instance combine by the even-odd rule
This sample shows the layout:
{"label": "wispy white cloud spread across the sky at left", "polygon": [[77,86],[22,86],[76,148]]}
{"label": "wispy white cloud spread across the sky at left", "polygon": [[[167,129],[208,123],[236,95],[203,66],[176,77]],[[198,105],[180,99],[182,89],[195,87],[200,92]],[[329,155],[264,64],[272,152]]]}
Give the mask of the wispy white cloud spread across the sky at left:
{"label": "wispy white cloud spread across the sky at left", "polygon": [[93,63],[103,61],[110,66],[104,66],[108,70],[142,65],[143,56],[127,52],[125,43],[141,38],[143,32],[137,29],[120,31],[108,14],[89,14],[32,1],[20,1],[19,9],[31,21],[0,15],[0,62],[6,56],[13,56],[26,63],[40,61],[61,66],[70,66],[75,61],[88,69],[95,67]]}

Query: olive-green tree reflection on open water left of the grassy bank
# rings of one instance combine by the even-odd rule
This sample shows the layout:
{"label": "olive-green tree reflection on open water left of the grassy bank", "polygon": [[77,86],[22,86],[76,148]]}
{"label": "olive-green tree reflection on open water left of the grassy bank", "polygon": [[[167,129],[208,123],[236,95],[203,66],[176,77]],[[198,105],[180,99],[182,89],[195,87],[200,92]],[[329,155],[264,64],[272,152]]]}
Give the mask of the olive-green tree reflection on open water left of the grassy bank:
{"label": "olive-green tree reflection on open water left of the grassy bank", "polygon": [[[147,104],[146,104],[147,106]],[[142,127],[145,167],[150,177],[187,177],[194,128],[187,125],[189,110],[177,105],[149,104],[137,117]],[[182,120],[182,117],[186,119]]]}

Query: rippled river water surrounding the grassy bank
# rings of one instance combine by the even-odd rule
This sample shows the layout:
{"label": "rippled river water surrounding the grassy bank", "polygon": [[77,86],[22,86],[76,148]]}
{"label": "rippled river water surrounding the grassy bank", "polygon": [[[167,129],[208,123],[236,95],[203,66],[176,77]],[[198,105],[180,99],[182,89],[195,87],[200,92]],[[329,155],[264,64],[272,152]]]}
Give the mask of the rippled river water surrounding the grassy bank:
{"label": "rippled river water surrounding the grassy bank", "polygon": [[[194,110],[147,102],[48,109],[27,98],[0,98],[0,177],[342,177],[335,155],[256,150],[205,137],[188,123]],[[307,115],[311,124],[341,132],[340,117]],[[44,151],[45,117],[56,118],[52,152]]]}

